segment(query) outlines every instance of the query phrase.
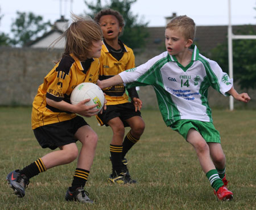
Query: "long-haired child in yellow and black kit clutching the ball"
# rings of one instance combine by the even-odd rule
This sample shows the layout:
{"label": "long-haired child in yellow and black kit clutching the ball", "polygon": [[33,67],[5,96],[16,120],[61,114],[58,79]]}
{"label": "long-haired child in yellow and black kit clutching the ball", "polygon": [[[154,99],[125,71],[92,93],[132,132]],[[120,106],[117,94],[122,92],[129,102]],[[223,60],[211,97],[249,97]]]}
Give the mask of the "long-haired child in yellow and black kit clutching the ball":
{"label": "long-haired child in yellow and black kit clutching the ball", "polygon": [[[57,39],[65,37],[65,52],[38,88],[32,107],[32,129],[36,140],[49,152],[22,170],[7,175],[14,193],[22,198],[30,179],[52,167],[75,161],[77,168],[71,187],[65,194],[67,201],[93,203],[84,190],[98,141],[97,134],[83,117],[97,115],[98,109],[85,106],[90,99],[78,104],[70,103],[72,90],[81,82],[97,82],[101,54],[102,31],[92,19],[73,15],[74,22]],[[79,114],[81,116],[77,116]],[[76,141],[81,142],[81,150]],[[59,148],[59,150],[55,150]]]}

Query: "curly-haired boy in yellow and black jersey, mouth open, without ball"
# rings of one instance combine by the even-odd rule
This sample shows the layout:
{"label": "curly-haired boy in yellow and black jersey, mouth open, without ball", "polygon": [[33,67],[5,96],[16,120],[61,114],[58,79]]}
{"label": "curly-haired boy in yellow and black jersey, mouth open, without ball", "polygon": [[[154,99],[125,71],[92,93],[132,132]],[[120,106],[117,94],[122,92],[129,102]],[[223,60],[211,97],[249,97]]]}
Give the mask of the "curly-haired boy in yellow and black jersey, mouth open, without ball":
{"label": "curly-haired boy in yellow and black jersey, mouth open, without ball", "polygon": [[[122,15],[118,11],[105,9],[98,12],[94,19],[100,23],[104,35],[99,79],[108,79],[127,69],[134,68],[133,50],[118,39],[124,26]],[[127,90],[131,103],[129,96],[125,93],[123,83],[103,91],[106,94],[107,108],[102,114],[97,115],[97,119],[101,125],[110,126],[113,131],[110,143],[112,174],[110,174],[109,182],[136,183],[137,181],[130,177],[125,155],[144,131],[145,125],[140,112],[142,102],[134,87]],[[125,127],[131,128],[126,136]]]}

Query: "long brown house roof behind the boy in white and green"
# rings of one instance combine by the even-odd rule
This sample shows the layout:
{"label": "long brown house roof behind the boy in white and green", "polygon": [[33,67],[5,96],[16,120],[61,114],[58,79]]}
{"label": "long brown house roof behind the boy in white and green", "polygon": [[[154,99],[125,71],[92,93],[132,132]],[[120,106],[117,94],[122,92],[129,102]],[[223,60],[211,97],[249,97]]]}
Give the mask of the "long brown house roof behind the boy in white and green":
{"label": "long brown house roof behind the boy in white and green", "polygon": [[[256,25],[241,25],[232,26],[234,34],[239,31],[246,31],[247,27],[253,27],[256,31]],[[164,44],[164,31],[165,27],[148,27],[148,33],[150,36],[146,41],[146,49],[159,49],[159,51],[165,50]],[[243,34],[246,34],[243,33]],[[218,44],[224,43],[228,38],[228,26],[197,26],[195,44],[199,48],[200,52],[208,52]]]}

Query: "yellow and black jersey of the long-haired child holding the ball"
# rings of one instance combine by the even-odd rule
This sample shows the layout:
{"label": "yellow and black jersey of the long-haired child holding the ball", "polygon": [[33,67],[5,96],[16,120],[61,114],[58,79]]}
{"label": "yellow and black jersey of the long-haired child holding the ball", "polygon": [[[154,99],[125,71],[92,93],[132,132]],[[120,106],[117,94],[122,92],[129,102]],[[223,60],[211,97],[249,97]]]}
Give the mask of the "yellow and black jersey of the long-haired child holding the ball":
{"label": "yellow and black jersey of the long-haired child holding the ball", "polygon": [[96,83],[99,69],[100,60],[98,58],[81,62],[72,54],[63,56],[38,88],[32,107],[32,129],[75,117],[76,114],[49,106],[46,103],[46,98],[56,102],[64,100],[70,103],[72,90],[82,82]]}

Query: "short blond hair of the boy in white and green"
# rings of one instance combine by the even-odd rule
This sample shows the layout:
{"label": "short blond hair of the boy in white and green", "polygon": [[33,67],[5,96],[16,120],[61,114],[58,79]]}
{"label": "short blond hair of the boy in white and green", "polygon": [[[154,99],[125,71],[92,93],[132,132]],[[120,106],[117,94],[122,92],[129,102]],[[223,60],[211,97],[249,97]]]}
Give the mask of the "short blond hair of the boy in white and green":
{"label": "short blond hair of the boy in white and green", "polygon": [[177,16],[167,24],[166,29],[179,30],[183,33],[185,39],[191,39],[192,41],[196,36],[196,24],[193,19],[187,15]]}

